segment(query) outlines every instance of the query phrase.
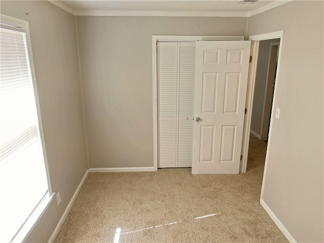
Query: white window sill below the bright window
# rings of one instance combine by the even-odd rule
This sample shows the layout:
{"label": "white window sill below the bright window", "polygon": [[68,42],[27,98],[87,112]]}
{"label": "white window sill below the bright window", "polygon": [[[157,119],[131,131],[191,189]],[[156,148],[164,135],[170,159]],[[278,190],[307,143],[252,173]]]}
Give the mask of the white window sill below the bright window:
{"label": "white window sill below the bright window", "polygon": [[38,205],[35,211],[30,215],[24,226],[19,230],[18,234],[12,240],[12,243],[24,242],[27,236],[30,234],[31,230],[35,227],[38,220],[42,217],[44,212],[49,207],[51,201],[53,200],[55,193],[50,195],[49,192],[45,195],[43,201]]}

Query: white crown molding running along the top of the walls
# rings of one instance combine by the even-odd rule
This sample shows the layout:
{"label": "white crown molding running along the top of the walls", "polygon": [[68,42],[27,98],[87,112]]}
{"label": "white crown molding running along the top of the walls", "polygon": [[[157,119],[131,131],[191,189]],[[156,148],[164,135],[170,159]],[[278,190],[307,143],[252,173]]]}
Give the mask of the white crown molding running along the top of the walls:
{"label": "white crown molding running along the top of the walls", "polygon": [[74,10],[62,1],[48,0],[68,13],[76,16],[156,16],[156,17],[251,17],[294,0],[276,0],[250,12],[209,12],[209,11],[109,11],[109,10]]}

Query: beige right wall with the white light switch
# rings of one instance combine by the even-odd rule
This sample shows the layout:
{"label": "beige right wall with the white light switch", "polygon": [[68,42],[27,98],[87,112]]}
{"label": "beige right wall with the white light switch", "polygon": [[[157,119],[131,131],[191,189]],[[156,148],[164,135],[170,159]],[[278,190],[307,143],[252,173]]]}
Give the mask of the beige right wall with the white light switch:
{"label": "beige right wall with the white light switch", "polygon": [[283,30],[263,200],[297,242],[323,242],[323,2],[253,16],[249,35]]}

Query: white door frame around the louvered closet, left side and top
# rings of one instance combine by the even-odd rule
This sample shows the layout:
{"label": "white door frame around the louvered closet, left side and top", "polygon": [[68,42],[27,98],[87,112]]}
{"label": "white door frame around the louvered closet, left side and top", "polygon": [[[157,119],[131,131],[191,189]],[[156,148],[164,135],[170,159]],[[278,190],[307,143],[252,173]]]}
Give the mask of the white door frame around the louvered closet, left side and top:
{"label": "white door frame around the louvered closet, left side and top", "polygon": [[153,168],[157,171],[157,42],[244,41],[244,36],[152,35],[153,68]]}

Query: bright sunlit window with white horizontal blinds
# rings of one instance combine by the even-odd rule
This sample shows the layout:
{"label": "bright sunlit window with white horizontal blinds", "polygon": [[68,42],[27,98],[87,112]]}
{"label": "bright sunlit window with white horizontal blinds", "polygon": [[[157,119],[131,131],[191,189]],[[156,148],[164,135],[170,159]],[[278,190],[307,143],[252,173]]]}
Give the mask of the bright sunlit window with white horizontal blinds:
{"label": "bright sunlit window with white horizontal blinds", "polygon": [[30,230],[35,212],[49,197],[49,184],[28,57],[28,25],[1,17],[0,242],[11,242]]}

